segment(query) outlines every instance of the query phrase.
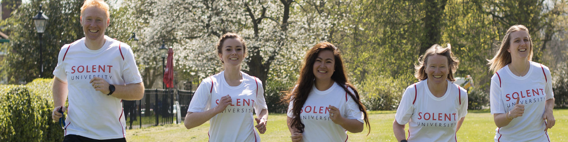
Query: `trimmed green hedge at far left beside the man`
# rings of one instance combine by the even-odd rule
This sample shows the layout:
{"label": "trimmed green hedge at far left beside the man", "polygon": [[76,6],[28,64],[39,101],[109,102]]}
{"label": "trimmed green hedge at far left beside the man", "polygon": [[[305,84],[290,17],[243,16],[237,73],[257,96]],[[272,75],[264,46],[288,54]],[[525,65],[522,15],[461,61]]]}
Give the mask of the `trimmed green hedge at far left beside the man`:
{"label": "trimmed green hedge at far left beside the man", "polygon": [[51,119],[51,82],[0,85],[0,141],[63,141],[64,131]]}

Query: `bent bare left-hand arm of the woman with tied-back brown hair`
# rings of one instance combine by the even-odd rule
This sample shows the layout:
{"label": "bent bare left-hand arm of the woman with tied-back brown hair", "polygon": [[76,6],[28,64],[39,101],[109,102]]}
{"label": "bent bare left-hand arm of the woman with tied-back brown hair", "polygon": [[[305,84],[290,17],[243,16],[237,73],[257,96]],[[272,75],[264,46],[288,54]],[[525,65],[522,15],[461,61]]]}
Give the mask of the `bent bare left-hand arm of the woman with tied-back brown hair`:
{"label": "bent bare left-hand arm of the woman with tied-back brown hair", "polygon": [[[231,97],[229,95],[221,97],[221,100],[219,101],[219,105],[217,105],[213,109],[203,111],[203,112],[187,112],[187,115],[185,115],[185,120],[183,120],[183,125],[187,129],[191,129],[191,128],[201,126],[201,124],[207,122],[207,120],[209,120],[209,119],[213,118],[215,115],[223,112],[225,110],[225,108],[227,108],[227,106],[231,105],[231,104],[232,104],[232,101],[231,101]],[[267,115],[268,115],[268,111],[266,111],[266,112],[267,112]]]}

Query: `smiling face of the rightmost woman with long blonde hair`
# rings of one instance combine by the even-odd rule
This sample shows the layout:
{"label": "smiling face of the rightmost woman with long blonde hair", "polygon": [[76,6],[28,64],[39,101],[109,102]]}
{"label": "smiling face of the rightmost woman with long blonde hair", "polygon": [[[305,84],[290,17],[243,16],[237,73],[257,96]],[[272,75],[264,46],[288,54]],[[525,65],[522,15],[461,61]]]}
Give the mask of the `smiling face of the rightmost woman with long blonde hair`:
{"label": "smiling face of the rightmost woman with long blonde hair", "polygon": [[531,54],[531,40],[529,33],[524,30],[514,31],[509,34],[509,48],[507,52],[511,53],[512,60],[524,59]]}

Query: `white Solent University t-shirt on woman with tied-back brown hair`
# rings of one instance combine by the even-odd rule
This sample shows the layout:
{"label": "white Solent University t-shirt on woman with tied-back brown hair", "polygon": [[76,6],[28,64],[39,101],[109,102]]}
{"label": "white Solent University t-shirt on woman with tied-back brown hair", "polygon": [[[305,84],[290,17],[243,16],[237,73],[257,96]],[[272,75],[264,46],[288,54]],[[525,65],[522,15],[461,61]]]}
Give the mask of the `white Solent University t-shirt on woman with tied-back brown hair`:
{"label": "white Solent University t-shirt on woman with tied-back brown hair", "polygon": [[191,99],[187,112],[203,112],[216,107],[221,97],[231,96],[232,105],[210,119],[209,141],[260,141],[254,129],[253,110],[258,115],[268,109],[262,82],[243,74],[239,86],[229,86],[224,71],[205,78]]}

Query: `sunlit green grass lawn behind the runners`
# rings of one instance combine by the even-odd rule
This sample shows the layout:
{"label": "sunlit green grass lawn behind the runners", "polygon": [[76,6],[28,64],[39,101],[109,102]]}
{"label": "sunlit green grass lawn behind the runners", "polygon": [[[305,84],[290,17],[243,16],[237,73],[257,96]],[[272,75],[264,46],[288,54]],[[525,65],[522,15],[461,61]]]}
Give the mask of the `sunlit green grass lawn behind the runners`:
{"label": "sunlit green grass lawn behind the runners", "polygon": [[[348,133],[349,141],[396,141],[392,133],[392,121],[395,111],[369,112],[371,132]],[[550,141],[568,141],[568,110],[554,110],[556,125],[548,131]],[[262,141],[290,141],[290,132],[286,126],[285,114],[270,114],[268,130],[261,134]],[[408,126],[407,126],[408,128]],[[493,116],[488,110],[470,110],[458,131],[458,141],[493,141],[495,136]],[[169,124],[158,127],[148,127],[127,130],[128,141],[207,141],[209,122],[202,126],[187,130],[183,124]],[[406,130],[405,130],[406,132]],[[408,136],[408,133],[406,134]]]}

